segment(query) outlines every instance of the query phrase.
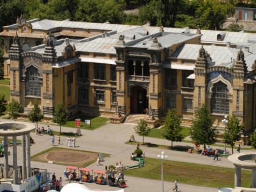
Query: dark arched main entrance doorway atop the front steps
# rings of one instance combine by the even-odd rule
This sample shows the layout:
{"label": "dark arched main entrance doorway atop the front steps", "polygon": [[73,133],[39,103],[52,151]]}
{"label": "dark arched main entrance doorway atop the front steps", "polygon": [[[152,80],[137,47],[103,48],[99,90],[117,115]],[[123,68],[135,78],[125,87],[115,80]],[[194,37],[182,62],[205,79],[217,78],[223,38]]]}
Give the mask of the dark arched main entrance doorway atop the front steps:
{"label": "dark arched main entrance doorway atop the front steps", "polygon": [[137,85],[131,88],[130,96],[130,112],[131,113],[144,113],[148,108],[149,99],[147,98],[147,90]]}

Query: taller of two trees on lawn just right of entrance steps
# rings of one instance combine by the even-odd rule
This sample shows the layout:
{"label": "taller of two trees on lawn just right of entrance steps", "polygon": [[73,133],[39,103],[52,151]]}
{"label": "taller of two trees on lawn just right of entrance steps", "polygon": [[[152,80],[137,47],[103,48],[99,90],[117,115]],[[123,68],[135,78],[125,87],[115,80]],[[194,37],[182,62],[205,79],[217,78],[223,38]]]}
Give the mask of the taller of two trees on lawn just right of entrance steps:
{"label": "taller of two trees on lawn just right of entrance steps", "polygon": [[180,126],[180,123],[182,122],[182,119],[179,118],[176,114],[176,109],[172,108],[168,111],[167,115],[163,118],[163,137],[166,138],[166,140],[171,141],[182,141],[183,135],[181,133],[182,127]]}

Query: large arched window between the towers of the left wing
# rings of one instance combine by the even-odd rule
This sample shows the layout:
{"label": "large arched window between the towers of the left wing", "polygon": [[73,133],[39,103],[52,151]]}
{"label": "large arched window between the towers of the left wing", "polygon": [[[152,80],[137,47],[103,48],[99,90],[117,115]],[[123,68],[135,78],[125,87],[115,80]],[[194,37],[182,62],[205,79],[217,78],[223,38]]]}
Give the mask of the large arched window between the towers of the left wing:
{"label": "large arched window between the towers of the left wing", "polygon": [[26,71],[26,95],[41,96],[41,84],[37,68],[29,66]]}

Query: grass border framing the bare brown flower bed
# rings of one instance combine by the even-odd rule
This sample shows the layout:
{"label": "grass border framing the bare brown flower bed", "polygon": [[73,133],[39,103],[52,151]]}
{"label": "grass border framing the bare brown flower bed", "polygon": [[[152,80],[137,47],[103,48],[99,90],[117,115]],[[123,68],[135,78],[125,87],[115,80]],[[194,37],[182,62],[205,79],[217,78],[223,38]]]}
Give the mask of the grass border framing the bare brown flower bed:
{"label": "grass border framing the bare brown flower bed", "polygon": [[[101,152],[84,151],[84,150],[79,150],[79,149],[68,149],[68,148],[52,147],[52,148],[46,149],[46,150],[44,150],[44,151],[41,151],[41,152],[39,152],[38,154],[32,155],[30,158],[31,158],[31,160],[33,160],[33,161],[35,161],[35,162],[48,163],[48,161],[37,160],[37,159],[34,159],[34,158],[37,157],[38,155],[45,154],[46,152],[49,152],[49,151],[52,151],[52,150],[58,150],[58,149],[65,149],[65,150],[71,150],[71,151],[82,151],[82,152],[90,152],[90,153],[94,153],[94,154],[101,154]],[[102,155],[103,155],[103,157],[108,157],[110,154],[102,153]],[[87,162],[87,163],[85,163],[85,164],[82,165],[82,166],[79,165],[78,167],[85,167],[85,166],[91,165],[91,163],[94,163],[94,162],[96,162],[96,159],[95,159],[95,160],[91,160],[90,162]],[[75,165],[75,164],[59,163],[59,162],[53,162],[53,164],[77,166],[77,165]]]}

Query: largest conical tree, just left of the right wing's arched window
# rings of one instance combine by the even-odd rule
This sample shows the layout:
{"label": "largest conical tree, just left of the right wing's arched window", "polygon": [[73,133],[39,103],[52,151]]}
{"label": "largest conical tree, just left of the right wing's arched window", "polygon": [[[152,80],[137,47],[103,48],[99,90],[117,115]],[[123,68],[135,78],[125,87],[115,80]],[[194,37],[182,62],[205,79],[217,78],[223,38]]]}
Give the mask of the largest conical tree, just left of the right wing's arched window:
{"label": "largest conical tree, just left of the right wing's arched window", "polygon": [[216,128],[213,127],[213,116],[210,110],[202,104],[193,119],[191,138],[198,144],[213,144],[216,142]]}

